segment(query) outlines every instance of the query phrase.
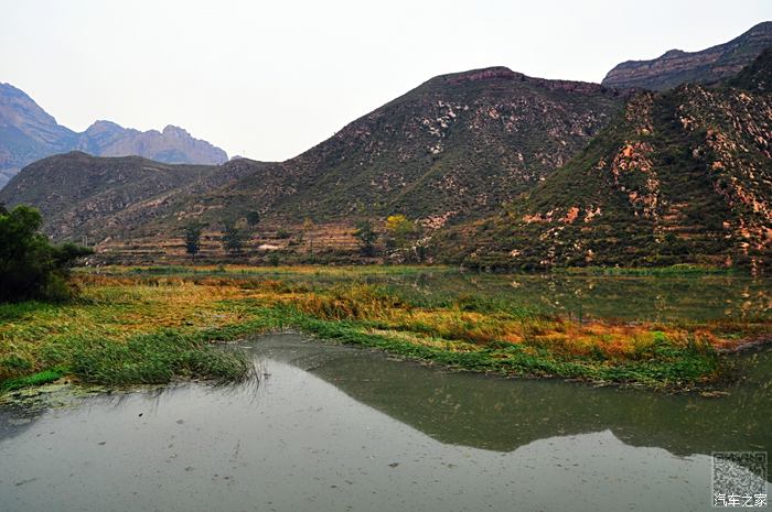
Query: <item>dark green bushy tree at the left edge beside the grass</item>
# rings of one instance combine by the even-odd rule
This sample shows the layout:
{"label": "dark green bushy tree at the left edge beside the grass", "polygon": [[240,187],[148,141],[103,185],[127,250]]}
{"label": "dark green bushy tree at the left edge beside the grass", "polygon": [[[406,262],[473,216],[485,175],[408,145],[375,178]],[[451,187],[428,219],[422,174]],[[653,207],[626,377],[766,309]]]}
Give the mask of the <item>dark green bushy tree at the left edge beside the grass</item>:
{"label": "dark green bushy tree at the left edge beside the grass", "polygon": [[40,232],[43,218],[34,208],[0,206],[0,302],[31,298],[64,301],[72,296],[67,285],[71,266],[92,254],[73,243],[52,246]]}

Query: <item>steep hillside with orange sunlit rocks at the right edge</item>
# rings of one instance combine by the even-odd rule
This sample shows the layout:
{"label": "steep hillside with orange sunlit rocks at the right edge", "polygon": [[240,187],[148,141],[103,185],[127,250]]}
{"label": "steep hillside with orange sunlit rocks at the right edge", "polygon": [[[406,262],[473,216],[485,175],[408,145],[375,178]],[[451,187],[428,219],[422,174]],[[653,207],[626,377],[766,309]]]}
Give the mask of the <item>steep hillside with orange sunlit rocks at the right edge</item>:
{"label": "steep hillside with orange sunlit rocks at the right edge", "polygon": [[764,52],[719,87],[636,96],[504,213],[437,237],[436,253],[524,269],[769,264],[770,73],[772,52]]}

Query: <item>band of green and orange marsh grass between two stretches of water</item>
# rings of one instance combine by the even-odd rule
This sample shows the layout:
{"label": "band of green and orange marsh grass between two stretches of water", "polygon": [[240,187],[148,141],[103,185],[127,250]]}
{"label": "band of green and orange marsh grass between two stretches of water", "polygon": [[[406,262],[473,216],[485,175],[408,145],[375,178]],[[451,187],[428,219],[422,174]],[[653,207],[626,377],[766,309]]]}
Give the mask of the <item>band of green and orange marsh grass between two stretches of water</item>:
{"label": "band of green and orange marsh grass between two stretches of water", "polygon": [[770,327],[763,315],[721,323],[573,318],[503,293],[426,293],[393,281],[396,270],[385,284],[363,284],[355,270],[320,280],[323,269],[288,272],[307,277],[288,282],[244,279],[233,269],[79,274],[76,302],[0,305],[0,390],[62,375],[105,385],[238,382],[254,374],[251,360],[217,345],[286,329],[470,371],[687,390],[727,374],[715,347],[763,337]]}

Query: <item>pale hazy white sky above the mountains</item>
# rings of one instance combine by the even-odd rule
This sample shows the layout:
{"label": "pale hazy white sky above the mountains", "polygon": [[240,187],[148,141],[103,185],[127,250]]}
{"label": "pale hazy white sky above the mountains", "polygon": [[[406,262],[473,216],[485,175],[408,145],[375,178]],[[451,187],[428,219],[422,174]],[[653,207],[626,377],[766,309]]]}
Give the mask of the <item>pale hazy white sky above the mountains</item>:
{"label": "pale hazy white sky above the mountains", "polygon": [[0,0],[0,81],[77,131],[178,124],[285,160],[432,76],[600,81],[772,20],[772,0]]}

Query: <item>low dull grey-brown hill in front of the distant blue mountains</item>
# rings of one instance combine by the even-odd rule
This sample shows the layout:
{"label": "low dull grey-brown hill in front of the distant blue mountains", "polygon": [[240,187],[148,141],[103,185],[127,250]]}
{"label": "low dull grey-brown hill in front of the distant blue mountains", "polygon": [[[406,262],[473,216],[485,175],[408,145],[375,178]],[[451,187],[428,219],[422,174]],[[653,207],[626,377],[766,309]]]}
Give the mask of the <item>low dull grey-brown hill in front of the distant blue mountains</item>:
{"label": "low dull grey-brown hill in front of the distant blue mountains", "polygon": [[71,152],[24,167],[0,190],[0,203],[40,208],[44,231],[56,240],[94,240],[136,229],[189,195],[232,184],[243,177],[239,170]]}

